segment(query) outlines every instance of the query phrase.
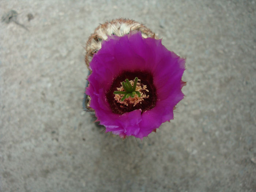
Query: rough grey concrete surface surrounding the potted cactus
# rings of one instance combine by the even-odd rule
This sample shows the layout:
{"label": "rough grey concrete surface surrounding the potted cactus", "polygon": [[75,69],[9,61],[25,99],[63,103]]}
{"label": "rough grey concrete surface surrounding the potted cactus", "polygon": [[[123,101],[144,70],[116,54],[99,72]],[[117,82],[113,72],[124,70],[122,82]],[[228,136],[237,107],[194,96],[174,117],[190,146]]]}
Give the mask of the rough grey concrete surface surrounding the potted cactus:
{"label": "rough grey concrete surface surrounding the potted cactus", "polygon": [[[0,190],[256,191],[255,1],[1,1]],[[28,14],[34,16],[30,21]],[[187,57],[174,120],[140,141],[83,112],[99,23],[145,23]]]}

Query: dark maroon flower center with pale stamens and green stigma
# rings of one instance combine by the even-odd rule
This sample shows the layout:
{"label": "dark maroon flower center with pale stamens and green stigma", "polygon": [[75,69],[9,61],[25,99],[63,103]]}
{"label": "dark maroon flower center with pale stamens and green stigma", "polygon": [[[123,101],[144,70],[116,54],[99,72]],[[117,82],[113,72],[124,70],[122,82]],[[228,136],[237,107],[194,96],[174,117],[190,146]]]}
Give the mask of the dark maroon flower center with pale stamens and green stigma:
{"label": "dark maroon flower center with pale stamens and green stigma", "polygon": [[113,80],[106,98],[112,112],[116,114],[152,109],[157,101],[153,76],[145,71],[124,71]]}

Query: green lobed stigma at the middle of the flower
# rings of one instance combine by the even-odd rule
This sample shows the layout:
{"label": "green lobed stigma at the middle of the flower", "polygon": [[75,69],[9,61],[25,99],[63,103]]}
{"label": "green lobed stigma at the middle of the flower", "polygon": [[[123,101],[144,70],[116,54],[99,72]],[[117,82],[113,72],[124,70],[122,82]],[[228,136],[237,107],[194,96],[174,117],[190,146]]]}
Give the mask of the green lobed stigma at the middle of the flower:
{"label": "green lobed stigma at the middle of the flower", "polygon": [[131,85],[131,83],[129,82],[128,79],[125,79],[125,82],[122,82],[122,86],[124,88],[125,91],[114,91],[114,94],[124,94],[124,96],[121,98],[121,101],[124,101],[124,99],[127,99],[129,97],[134,98],[135,94],[138,95],[138,97],[140,97],[140,92],[139,91],[135,91],[136,90],[136,85],[138,82],[138,77],[136,77],[133,81],[133,86]]}

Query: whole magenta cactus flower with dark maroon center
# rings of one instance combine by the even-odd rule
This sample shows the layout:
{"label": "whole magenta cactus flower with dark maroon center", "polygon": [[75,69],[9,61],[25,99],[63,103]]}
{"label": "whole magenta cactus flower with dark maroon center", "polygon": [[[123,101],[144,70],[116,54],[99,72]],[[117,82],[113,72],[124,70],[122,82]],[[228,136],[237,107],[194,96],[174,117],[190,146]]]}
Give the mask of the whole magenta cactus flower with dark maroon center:
{"label": "whole magenta cactus flower with dark maroon center", "polygon": [[102,41],[90,69],[90,107],[106,132],[121,138],[143,139],[173,119],[173,109],[184,97],[185,59],[167,50],[161,39],[143,38],[138,31]]}

